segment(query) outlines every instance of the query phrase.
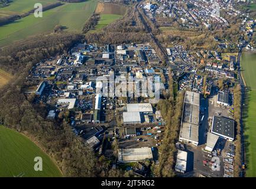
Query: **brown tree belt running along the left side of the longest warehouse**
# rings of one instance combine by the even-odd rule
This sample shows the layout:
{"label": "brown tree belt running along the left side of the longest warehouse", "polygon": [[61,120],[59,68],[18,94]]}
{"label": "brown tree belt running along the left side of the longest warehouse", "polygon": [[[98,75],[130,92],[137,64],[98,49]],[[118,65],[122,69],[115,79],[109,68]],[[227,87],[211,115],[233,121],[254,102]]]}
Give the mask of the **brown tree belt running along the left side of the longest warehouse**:
{"label": "brown tree belt running along the left side of the longest warehouse", "polygon": [[170,96],[168,99],[161,99],[157,105],[166,122],[163,142],[159,149],[161,153],[159,165],[154,166],[154,174],[157,177],[174,177],[175,175],[174,165],[177,155],[175,143],[179,139],[180,121],[182,119],[184,92],[180,92],[177,98],[174,98],[173,77],[171,76],[171,69],[169,70]]}

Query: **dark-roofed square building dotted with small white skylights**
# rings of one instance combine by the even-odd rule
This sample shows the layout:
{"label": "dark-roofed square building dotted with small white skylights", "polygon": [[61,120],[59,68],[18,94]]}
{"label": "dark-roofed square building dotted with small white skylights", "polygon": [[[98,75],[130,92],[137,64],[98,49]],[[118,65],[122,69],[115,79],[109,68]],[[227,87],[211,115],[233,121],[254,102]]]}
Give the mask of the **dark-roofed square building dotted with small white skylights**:
{"label": "dark-roofed square building dotted with small white skylights", "polygon": [[234,141],[235,122],[229,118],[213,116],[211,131],[222,138],[228,139],[229,141]]}

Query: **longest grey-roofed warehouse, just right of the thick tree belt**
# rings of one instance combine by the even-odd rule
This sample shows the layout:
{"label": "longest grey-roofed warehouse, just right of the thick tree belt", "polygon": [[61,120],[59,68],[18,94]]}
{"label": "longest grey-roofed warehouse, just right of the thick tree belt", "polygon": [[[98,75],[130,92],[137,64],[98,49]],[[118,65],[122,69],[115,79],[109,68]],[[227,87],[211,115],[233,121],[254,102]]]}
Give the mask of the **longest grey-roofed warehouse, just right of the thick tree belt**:
{"label": "longest grey-roofed warehouse, just right of the thick tree belt", "polygon": [[186,91],[184,96],[180,142],[198,145],[199,142],[200,94]]}

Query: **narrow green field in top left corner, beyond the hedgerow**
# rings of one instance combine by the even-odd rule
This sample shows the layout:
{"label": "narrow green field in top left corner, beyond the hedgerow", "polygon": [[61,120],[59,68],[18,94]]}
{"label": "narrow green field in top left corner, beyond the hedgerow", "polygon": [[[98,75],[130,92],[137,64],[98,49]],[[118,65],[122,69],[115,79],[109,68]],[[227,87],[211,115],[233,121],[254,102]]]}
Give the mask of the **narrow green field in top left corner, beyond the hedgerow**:
{"label": "narrow green field in top left corner, beyond the hedgerow", "polygon": [[42,5],[52,4],[57,2],[57,0],[12,0],[12,2],[5,7],[0,7],[0,17],[7,17],[9,15],[21,15],[25,12],[34,9],[35,3],[40,3]]}

